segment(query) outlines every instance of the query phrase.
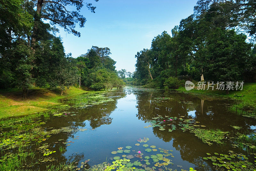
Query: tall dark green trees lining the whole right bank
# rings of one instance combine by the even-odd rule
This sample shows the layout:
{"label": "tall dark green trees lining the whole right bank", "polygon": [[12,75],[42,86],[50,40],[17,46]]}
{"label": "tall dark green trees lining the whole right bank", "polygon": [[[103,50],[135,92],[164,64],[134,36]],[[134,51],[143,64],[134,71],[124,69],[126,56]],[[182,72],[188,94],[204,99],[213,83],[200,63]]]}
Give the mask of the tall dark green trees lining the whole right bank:
{"label": "tall dark green trees lining the whole right bank", "polygon": [[241,81],[245,73],[255,75],[255,11],[254,0],[199,0],[194,14],[182,19],[172,35],[164,31],[150,49],[135,55],[130,82],[164,87],[177,85],[180,75],[198,81],[201,74],[208,81]]}

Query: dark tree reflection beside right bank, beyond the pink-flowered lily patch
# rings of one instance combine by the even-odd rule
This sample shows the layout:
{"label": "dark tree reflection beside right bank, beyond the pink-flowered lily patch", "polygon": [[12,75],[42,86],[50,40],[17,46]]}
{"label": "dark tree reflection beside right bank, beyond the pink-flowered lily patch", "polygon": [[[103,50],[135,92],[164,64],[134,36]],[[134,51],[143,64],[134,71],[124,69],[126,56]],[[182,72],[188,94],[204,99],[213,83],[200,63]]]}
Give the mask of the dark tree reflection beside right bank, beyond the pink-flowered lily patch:
{"label": "dark tree reflection beside right bank, beyond the pink-flowered lily patch", "polygon": [[[136,93],[135,93],[136,95]],[[157,97],[170,97],[170,100],[158,102]],[[224,131],[232,130],[230,125],[242,127],[241,132],[250,129],[250,125],[255,125],[255,121],[242,116],[234,115],[228,110],[228,100],[206,99],[202,100],[196,96],[185,93],[164,93],[164,92],[140,92],[136,95],[138,114],[137,117],[145,122],[156,115],[185,116],[185,119],[195,119],[201,125],[210,129],[220,129]],[[192,102],[186,104],[183,102]],[[190,111],[195,111],[195,115],[189,115]]]}

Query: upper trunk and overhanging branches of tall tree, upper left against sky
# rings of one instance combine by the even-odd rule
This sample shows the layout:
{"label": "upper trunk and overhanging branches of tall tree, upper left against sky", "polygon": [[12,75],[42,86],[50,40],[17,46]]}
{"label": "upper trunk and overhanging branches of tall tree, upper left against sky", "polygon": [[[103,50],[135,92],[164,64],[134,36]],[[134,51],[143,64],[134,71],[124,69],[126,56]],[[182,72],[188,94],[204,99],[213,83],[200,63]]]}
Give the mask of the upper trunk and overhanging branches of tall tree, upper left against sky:
{"label": "upper trunk and overhanging branches of tall tree, upper left against sky", "polygon": [[[98,0],[95,1],[97,2]],[[36,45],[36,39],[40,36],[38,29],[40,29],[41,19],[49,21],[51,25],[63,27],[68,33],[73,33],[80,37],[80,33],[75,30],[76,24],[79,23],[80,27],[84,27],[86,22],[85,17],[79,13],[80,10],[84,4],[92,12],[95,12],[96,8],[91,3],[84,3],[83,0],[29,0],[28,2],[32,2],[34,7],[36,7],[34,8],[35,22],[31,39],[33,46]],[[72,8],[76,10],[70,10]]]}

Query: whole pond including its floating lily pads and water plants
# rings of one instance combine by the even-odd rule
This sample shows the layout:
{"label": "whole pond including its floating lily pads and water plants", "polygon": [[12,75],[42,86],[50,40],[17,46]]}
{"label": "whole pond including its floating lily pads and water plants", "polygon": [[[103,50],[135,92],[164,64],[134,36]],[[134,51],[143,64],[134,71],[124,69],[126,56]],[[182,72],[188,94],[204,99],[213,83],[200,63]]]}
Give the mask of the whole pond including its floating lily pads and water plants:
{"label": "whole pond including its floating lily pads and water plants", "polygon": [[256,169],[256,121],[230,112],[232,100],[126,87],[61,102],[33,120],[2,121],[1,155],[32,149],[23,165],[32,170],[119,159],[135,171]]}

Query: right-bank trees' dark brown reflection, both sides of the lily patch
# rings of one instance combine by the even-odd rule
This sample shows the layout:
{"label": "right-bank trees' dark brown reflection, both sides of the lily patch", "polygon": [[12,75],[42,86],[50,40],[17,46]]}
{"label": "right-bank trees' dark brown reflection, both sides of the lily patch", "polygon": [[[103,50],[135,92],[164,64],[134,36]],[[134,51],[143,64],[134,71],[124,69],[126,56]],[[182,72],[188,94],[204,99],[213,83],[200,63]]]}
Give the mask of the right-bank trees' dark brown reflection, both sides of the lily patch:
{"label": "right-bank trees' dark brown reflection, both sides of the lily patch", "polygon": [[[184,119],[195,119],[200,122],[200,125],[205,125],[206,129],[220,129],[223,131],[230,131],[232,127],[230,125],[236,125],[242,127],[240,132],[244,132],[250,129],[250,125],[254,125],[255,121],[248,120],[242,116],[234,116],[234,113],[228,111],[228,100],[217,99],[200,99],[196,96],[185,93],[166,93],[166,92],[146,92],[142,91],[138,94],[134,92],[137,99],[138,114],[137,117],[140,120],[148,122],[157,115],[178,117],[185,116]],[[159,102],[155,100],[158,97],[170,97],[170,100],[163,100],[165,102]],[[192,102],[191,104],[183,103]],[[190,111],[194,111],[195,115],[189,115]],[[189,131],[182,132],[177,129],[172,132],[168,132],[171,126],[166,125],[166,130],[161,131],[158,127],[153,128],[153,133],[164,142],[170,142],[172,140],[172,146],[180,151],[181,158],[187,160],[190,163],[194,163],[196,170],[211,170],[208,165],[202,167],[202,157],[205,157],[206,152],[214,153],[228,151],[231,148],[231,143],[226,143],[221,147],[213,144],[202,143],[200,139],[194,136]],[[200,147],[199,147],[200,146]],[[234,149],[236,151],[238,149]]]}

